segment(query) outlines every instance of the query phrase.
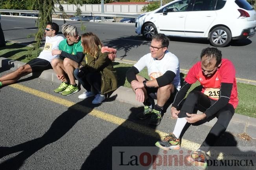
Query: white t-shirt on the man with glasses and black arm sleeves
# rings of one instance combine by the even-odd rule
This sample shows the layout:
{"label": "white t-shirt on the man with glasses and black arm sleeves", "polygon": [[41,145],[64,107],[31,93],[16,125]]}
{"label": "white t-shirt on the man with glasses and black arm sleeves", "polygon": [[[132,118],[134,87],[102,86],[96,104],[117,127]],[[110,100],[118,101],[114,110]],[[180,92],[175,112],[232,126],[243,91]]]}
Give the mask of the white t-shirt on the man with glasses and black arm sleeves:
{"label": "white t-shirt on the man with glasses and black arm sleeves", "polygon": [[156,60],[151,57],[151,53],[144,55],[138,60],[134,67],[141,71],[147,67],[147,72],[151,80],[156,79],[163,75],[166,71],[170,70],[176,74],[173,79],[173,84],[177,90],[180,90],[180,64],[179,59],[173,53],[166,51],[161,60]]}

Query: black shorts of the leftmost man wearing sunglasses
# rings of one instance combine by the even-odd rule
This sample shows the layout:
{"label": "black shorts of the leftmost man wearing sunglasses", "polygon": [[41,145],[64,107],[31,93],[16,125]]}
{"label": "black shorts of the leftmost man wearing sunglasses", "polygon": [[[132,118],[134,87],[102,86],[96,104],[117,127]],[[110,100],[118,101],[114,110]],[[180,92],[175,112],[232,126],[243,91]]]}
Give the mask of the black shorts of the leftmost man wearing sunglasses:
{"label": "black shorts of the leftmost man wearing sunglasses", "polygon": [[47,69],[52,69],[52,65],[49,61],[42,58],[35,58],[27,63],[33,72],[42,72]]}

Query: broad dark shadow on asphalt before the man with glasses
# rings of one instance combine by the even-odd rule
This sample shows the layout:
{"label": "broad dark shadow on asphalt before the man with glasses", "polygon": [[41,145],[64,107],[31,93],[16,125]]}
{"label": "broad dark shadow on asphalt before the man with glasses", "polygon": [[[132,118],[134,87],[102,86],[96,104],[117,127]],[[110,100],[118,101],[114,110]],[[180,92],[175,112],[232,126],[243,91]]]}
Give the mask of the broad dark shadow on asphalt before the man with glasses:
{"label": "broad dark shadow on asphalt before the man with glasses", "polygon": [[[129,167],[129,165],[127,165],[129,161],[127,161],[127,159],[122,161],[122,151],[123,157],[125,157],[127,156],[125,155],[125,150],[128,150],[127,152],[129,153],[138,154],[139,151],[136,147],[155,146],[154,143],[160,139],[158,133],[155,132],[156,127],[151,127],[151,135],[146,135],[149,133],[145,131],[144,133],[138,132],[143,129],[139,129],[139,127],[136,127],[134,124],[138,123],[140,125],[145,125],[146,127],[148,119],[144,121],[138,120],[138,118],[136,118],[137,113],[137,108],[131,108],[131,114],[129,115],[128,119],[118,126],[114,131],[112,131],[105,139],[103,139],[103,141],[101,141],[98,146],[94,148],[94,150],[90,152],[90,155],[87,157],[80,170],[113,170],[114,167],[112,167],[112,163],[115,166],[122,163],[123,165],[126,164],[126,166],[123,167],[119,166],[119,170],[129,169],[131,168],[131,166]],[[127,126],[129,126],[129,128],[127,128]],[[132,130],[130,127],[134,128],[135,130]],[[149,130],[149,128],[147,129]],[[116,151],[116,148],[112,148],[114,146],[120,146],[120,148],[118,148]],[[112,149],[114,153],[112,152]],[[154,147],[150,153],[157,155],[158,148]],[[129,157],[130,156],[131,155],[129,155]],[[134,159],[134,157],[129,160],[132,159]],[[135,161],[133,161],[133,163],[135,163]],[[142,166],[136,166],[136,168],[140,170],[147,169]]]}

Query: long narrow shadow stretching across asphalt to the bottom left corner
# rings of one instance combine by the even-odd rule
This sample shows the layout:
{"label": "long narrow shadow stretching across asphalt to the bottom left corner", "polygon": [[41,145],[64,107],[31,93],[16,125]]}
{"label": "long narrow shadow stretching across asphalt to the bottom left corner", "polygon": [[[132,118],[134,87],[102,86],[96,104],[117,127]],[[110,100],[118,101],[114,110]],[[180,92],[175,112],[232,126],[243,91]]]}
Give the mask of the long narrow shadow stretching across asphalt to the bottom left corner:
{"label": "long narrow shadow stretching across asphalt to the bottom left corner", "polygon": [[[108,99],[108,101],[114,100],[115,97]],[[61,139],[61,137],[63,137],[77,123],[77,121],[83,119],[94,109],[93,106],[88,107],[87,103],[88,100],[85,99],[68,108],[66,112],[62,113],[57,117],[57,119],[55,119],[49,130],[41,137],[12,147],[0,147],[0,159],[6,155],[21,151],[15,157],[0,163],[0,170],[20,169],[24,161],[26,161],[26,159],[31,155],[35,154],[35,152],[42,149],[44,146]]]}

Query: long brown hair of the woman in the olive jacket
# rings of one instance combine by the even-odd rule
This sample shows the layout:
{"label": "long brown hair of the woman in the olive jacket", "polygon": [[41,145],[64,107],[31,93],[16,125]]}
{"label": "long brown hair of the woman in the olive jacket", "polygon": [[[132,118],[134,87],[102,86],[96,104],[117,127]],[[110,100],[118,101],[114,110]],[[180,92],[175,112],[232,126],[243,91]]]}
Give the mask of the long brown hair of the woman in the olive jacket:
{"label": "long brown hair of the woman in the olive jacket", "polygon": [[103,47],[99,37],[92,32],[84,33],[81,38],[81,44],[83,46],[83,52],[90,54],[96,58],[96,55]]}

